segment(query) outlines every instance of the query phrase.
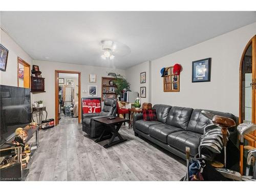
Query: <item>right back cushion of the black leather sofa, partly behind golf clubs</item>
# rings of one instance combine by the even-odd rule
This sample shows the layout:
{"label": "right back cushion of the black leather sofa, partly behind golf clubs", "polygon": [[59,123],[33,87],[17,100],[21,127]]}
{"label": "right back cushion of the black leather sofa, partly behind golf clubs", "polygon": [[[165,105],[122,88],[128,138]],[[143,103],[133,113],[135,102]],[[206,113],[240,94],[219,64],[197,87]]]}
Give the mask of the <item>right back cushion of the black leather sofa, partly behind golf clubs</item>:
{"label": "right back cushion of the black leather sofa, partly behind golf clubs", "polygon": [[[218,111],[211,111],[211,110],[205,110],[208,111],[212,114],[215,115],[220,115],[220,116],[224,116],[224,117],[228,117],[233,119],[234,121],[236,121],[236,117],[230,113],[223,113],[223,112],[218,112]],[[201,109],[195,109],[193,110],[189,123],[187,125],[187,130],[191,131],[191,132],[196,132],[196,133],[204,133],[204,127],[209,125],[209,124],[213,124],[212,121],[210,119],[208,119],[207,117],[205,117],[202,113]],[[230,130],[230,129],[229,129]]]}

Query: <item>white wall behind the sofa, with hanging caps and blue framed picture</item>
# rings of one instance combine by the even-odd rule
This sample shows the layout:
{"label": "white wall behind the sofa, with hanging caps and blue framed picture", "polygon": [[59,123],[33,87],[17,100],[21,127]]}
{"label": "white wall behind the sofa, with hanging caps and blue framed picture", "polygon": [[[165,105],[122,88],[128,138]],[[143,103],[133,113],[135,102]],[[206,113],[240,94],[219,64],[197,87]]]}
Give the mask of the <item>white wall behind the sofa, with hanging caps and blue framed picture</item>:
{"label": "white wall behind the sofa, with hanging caps and blue framed picture", "polygon": [[[152,104],[230,112],[239,116],[239,64],[256,23],[152,61]],[[211,57],[210,82],[191,82],[192,61]],[[163,92],[160,70],[180,63],[180,92]],[[134,67],[136,69],[136,67]],[[129,73],[132,71],[127,70]],[[143,70],[142,70],[143,71]],[[136,71],[134,71],[135,73]]]}

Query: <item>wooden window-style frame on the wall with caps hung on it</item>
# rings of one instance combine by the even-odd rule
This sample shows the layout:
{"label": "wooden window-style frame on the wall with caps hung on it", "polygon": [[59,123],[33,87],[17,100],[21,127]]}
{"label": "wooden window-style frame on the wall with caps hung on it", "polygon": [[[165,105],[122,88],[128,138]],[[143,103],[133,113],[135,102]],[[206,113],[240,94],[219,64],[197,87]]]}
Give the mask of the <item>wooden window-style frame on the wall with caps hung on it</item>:
{"label": "wooden window-style frame on the wall with caps hung on it", "polygon": [[173,66],[165,68],[167,73],[163,77],[164,92],[179,92],[180,91],[180,76],[173,73]]}

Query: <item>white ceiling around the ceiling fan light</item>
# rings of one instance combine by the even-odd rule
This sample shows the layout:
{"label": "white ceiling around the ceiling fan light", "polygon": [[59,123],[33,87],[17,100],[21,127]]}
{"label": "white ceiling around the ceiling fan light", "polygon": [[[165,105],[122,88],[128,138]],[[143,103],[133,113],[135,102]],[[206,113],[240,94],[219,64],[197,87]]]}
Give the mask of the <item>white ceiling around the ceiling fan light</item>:
{"label": "white ceiling around the ceiling fan light", "polygon": [[[256,12],[1,12],[33,59],[126,69],[256,22]],[[117,41],[113,60],[99,42]]]}

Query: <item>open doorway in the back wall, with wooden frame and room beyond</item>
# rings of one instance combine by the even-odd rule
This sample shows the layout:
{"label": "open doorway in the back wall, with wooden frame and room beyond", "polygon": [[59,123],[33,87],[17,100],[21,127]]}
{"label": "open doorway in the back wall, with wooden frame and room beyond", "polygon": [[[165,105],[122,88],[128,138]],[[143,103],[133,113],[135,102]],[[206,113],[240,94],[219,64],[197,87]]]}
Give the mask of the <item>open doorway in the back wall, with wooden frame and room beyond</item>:
{"label": "open doorway in the back wall, with wooden frame and room beyond", "polygon": [[[81,122],[81,73],[55,71],[55,124],[72,118]],[[64,121],[63,121],[64,122]]]}

